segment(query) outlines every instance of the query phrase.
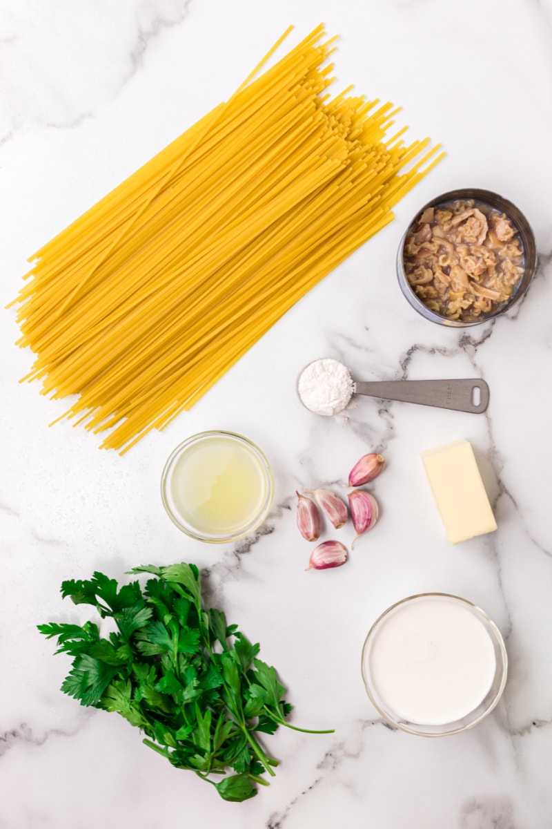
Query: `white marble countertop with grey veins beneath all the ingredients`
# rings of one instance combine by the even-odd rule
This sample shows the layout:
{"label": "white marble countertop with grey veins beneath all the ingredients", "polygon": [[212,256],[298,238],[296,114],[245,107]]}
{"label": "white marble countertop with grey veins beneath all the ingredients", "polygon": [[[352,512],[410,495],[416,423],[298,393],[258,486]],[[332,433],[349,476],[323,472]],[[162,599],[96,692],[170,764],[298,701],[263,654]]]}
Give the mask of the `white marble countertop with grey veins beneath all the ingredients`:
{"label": "white marble countertop with grey veins beneath all the ingredients", "polygon": [[[448,157],[194,410],[124,458],[66,421],[49,429],[65,403],[18,385],[31,354],[13,346],[15,314],[3,313],[0,829],[552,826],[550,0],[2,3],[2,306],[33,250],[227,98],[290,22],[304,36],[320,20],[342,36],[338,84],[401,104],[412,135],[430,134]],[[463,330],[414,313],[394,267],[411,216],[453,187],[514,201],[540,253],[515,313]],[[340,425],[295,395],[319,356],[366,380],[482,376],[491,403],[472,415],[365,398]],[[237,545],[187,540],[159,497],[171,449],[216,428],[247,434],[276,476],[269,520]],[[451,546],[420,451],[459,438],[473,444],[498,530]],[[305,573],[295,489],[335,485],[367,451],[388,463],[377,527],[347,566]],[[78,617],[62,579],[179,560],[199,565],[229,621],[261,642],[290,688],[291,721],[335,728],[281,729],[276,778],[242,804],[171,768],[120,717],[61,694],[69,660],[36,632]],[[510,674],[487,720],[428,740],[383,725],[359,667],[377,615],[432,590],[492,616]]]}

